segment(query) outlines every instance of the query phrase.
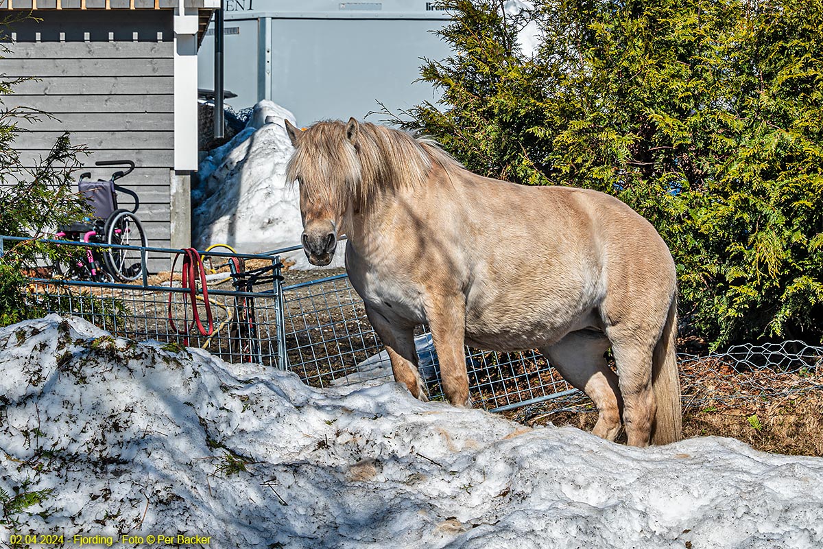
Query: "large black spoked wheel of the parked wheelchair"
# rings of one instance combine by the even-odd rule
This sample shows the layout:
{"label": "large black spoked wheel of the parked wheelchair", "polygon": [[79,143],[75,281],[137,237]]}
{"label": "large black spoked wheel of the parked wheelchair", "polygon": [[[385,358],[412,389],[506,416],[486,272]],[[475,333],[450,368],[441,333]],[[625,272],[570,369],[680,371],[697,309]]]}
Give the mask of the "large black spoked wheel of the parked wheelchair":
{"label": "large black spoked wheel of the parked wheelchair", "polygon": [[[105,222],[105,242],[121,246],[145,246],[146,232],[132,212],[115,210]],[[106,249],[103,252],[103,263],[109,274],[122,282],[133,281],[143,273],[138,249]]]}

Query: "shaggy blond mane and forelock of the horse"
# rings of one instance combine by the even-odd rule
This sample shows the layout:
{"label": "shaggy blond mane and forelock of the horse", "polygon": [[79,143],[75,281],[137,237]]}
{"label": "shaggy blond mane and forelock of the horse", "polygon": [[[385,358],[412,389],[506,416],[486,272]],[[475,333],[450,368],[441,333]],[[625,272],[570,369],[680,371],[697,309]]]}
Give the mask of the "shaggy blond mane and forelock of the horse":
{"label": "shaggy blond mane and forelock of the horse", "polygon": [[356,207],[367,207],[375,193],[425,184],[435,165],[447,173],[464,170],[429,137],[359,123],[350,139],[346,129],[346,123],[331,120],[300,133],[286,181],[299,179],[313,202],[342,205],[353,198]]}

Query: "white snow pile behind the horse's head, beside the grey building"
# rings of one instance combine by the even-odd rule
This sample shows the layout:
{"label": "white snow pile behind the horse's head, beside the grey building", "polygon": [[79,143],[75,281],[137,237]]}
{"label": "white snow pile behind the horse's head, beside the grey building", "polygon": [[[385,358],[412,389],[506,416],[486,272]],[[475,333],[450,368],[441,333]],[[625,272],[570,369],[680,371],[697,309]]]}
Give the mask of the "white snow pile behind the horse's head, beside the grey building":
{"label": "white snow pile behind the horse's head, beside the grey building", "polygon": [[[230,244],[256,254],[300,243],[303,231],[297,186],[286,185],[291,141],[284,119],[291,114],[269,100],[254,105],[246,128],[210,151],[198,170],[192,192],[192,241],[198,249]],[[329,268],[343,264],[342,247]],[[296,268],[311,268],[305,254],[289,258]]]}

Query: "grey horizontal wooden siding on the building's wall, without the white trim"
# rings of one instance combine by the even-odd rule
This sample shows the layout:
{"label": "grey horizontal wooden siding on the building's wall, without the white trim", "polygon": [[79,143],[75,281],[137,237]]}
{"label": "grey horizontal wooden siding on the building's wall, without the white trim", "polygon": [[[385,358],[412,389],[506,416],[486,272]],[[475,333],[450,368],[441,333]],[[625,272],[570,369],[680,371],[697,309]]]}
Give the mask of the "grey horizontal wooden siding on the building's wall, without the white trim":
{"label": "grey horizontal wooden siding on the building's wall, without the white trim", "polygon": [[[17,2],[14,4],[17,6]],[[40,2],[38,2],[40,5]],[[0,72],[36,77],[4,97],[4,106],[52,114],[21,123],[14,142],[26,167],[69,132],[86,145],[81,171],[108,179],[118,168],[100,160],[129,159],[137,168],[119,181],[141,200],[137,215],[150,244],[170,246],[170,173],[174,165],[174,31],[171,12],[38,12],[43,21],[16,24],[12,52]],[[111,35],[109,35],[111,33]],[[121,206],[131,198],[119,195]],[[151,270],[167,268],[153,259]]]}

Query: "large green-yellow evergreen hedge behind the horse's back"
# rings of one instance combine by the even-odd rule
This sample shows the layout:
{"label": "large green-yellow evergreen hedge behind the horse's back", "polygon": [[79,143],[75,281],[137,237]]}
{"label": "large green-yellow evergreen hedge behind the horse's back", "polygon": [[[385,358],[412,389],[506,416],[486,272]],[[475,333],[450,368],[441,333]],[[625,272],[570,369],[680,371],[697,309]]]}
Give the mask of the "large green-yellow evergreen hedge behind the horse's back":
{"label": "large green-yellow evergreen hedge behind the horse's back", "polygon": [[404,125],[479,174],[627,202],[672,249],[681,318],[714,347],[821,342],[821,0],[533,4],[441,2],[453,53],[421,79],[443,95]]}

